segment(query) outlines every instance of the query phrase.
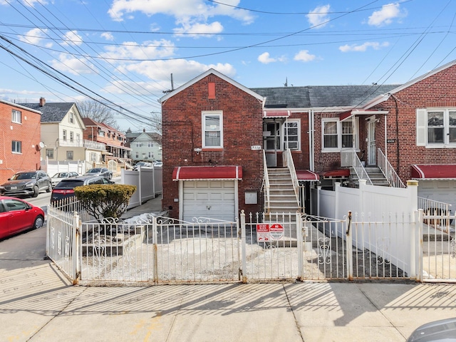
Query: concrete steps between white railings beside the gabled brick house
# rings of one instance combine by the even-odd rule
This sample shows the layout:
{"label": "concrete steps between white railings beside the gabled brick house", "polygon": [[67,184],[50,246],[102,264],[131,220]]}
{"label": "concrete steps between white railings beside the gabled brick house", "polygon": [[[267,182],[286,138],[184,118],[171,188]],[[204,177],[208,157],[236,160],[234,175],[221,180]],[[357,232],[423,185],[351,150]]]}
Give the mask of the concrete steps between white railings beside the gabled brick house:
{"label": "concrete steps between white railings beside the gabled brick house", "polygon": [[295,213],[299,204],[288,168],[268,168],[270,212]]}

